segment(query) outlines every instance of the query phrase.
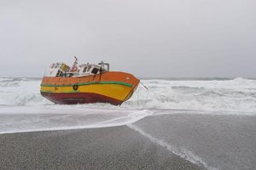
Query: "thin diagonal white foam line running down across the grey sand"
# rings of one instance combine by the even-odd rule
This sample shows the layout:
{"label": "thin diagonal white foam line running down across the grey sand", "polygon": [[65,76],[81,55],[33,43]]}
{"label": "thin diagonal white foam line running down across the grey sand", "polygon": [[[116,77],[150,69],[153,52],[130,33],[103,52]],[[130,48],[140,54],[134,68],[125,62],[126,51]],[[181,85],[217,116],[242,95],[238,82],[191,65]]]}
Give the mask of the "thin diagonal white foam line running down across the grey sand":
{"label": "thin diagonal white foam line running down across the grey sand", "polygon": [[141,128],[137,127],[136,125],[128,125],[131,129],[137,131],[138,133],[142,134],[144,137],[152,141],[154,144],[159,144],[160,146],[165,147],[167,150],[172,151],[173,154],[182,157],[185,160],[190,161],[191,163],[194,163],[199,166],[206,167],[207,169],[210,170],[217,170],[218,168],[216,167],[210,167],[207,165],[207,162],[203,161],[203,159],[199,156],[196,156],[193,152],[185,149],[179,149],[177,150],[172,144],[166,143],[162,139],[156,139],[149,133],[145,133]]}

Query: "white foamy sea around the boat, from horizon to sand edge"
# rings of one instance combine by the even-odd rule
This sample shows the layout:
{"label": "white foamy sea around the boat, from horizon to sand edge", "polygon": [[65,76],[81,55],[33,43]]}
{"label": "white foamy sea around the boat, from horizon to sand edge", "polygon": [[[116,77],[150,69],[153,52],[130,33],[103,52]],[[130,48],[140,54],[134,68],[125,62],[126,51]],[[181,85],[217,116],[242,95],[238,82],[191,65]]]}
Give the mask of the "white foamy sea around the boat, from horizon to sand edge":
{"label": "white foamy sea around the boat, from horizon to sand edge", "polygon": [[254,79],[155,78],[141,82],[143,85],[121,106],[55,105],[41,96],[40,78],[0,78],[0,133],[120,126],[146,116],[181,111],[256,115]]}

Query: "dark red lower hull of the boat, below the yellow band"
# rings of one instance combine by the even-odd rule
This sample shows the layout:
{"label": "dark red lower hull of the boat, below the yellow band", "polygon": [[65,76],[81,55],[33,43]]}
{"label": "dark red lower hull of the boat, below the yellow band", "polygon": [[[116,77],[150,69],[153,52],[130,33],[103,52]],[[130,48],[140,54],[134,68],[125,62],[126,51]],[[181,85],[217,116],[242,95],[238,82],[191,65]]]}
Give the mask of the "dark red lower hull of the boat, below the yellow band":
{"label": "dark red lower hull of the boat, below the yellow band", "polygon": [[121,105],[123,101],[113,99],[108,96],[93,93],[45,93],[41,92],[44,98],[49,99],[55,104],[89,104],[89,103],[110,103],[112,105]]}

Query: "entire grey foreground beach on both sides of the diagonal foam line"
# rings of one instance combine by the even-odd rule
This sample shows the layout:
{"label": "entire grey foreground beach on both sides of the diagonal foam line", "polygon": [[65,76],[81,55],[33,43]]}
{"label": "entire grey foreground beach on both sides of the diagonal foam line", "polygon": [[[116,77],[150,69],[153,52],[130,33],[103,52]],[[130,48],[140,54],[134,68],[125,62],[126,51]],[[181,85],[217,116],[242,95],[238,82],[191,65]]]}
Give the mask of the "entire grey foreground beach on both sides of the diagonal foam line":
{"label": "entire grey foreground beach on both sides of the diagonal foam line", "polygon": [[3,133],[0,169],[255,169],[256,116],[173,112],[119,127]]}

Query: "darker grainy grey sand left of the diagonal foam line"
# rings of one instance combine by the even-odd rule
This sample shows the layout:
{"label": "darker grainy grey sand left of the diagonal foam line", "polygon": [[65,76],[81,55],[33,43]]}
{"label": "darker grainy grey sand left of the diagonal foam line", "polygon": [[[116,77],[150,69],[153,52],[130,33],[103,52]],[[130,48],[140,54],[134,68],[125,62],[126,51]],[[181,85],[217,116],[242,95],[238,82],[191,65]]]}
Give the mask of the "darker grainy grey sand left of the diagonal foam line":
{"label": "darker grainy grey sand left of the diagonal foam line", "polygon": [[1,169],[203,169],[130,127],[0,134]]}

